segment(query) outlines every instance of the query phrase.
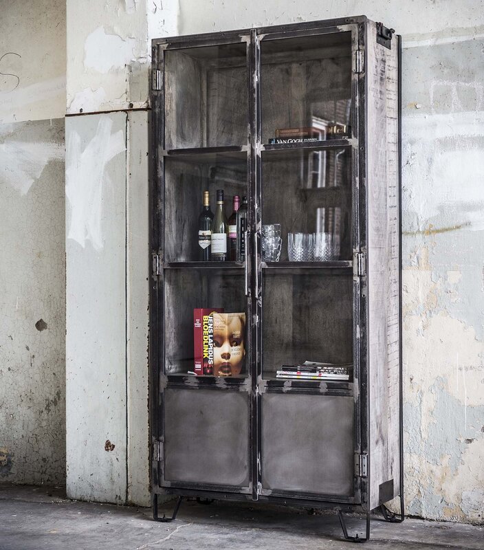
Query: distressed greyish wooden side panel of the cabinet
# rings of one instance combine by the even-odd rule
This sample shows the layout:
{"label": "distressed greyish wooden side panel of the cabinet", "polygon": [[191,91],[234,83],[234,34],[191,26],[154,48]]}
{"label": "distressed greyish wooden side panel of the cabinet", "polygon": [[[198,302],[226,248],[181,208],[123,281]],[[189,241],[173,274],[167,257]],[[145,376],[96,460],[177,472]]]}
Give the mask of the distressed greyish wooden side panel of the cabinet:
{"label": "distressed greyish wooden side panel of the cabinet", "polygon": [[[375,23],[369,23],[368,32],[369,507],[373,509],[399,494],[399,90],[397,37],[388,50],[376,43]],[[390,483],[382,486],[386,482]]]}

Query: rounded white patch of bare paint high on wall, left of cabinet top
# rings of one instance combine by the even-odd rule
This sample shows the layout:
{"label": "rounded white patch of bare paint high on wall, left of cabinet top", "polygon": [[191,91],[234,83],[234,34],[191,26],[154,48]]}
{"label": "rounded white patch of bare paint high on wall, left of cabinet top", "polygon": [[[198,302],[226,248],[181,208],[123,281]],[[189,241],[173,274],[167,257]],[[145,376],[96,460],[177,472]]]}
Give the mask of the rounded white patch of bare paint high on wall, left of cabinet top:
{"label": "rounded white patch of bare paint high on wall, left of cabinet top", "polygon": [[85,41],[85,69],[95,69],[100,73],[124,69],[133,61],[136,45],[137,39],[122,39],[118,34],[107,34],[104,27],[98,27]]}

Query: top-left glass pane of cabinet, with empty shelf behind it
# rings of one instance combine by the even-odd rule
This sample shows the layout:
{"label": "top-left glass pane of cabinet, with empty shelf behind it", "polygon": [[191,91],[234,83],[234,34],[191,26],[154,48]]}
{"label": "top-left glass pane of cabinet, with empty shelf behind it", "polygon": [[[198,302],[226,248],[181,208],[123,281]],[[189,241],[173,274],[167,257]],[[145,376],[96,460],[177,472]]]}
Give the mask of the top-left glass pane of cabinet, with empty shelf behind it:
{"label": "top-left glass pane of cabinet, with empty shelf behind it", "polygon": [[166,50],[164,97],[164,148],[247,144],[247,43]]}

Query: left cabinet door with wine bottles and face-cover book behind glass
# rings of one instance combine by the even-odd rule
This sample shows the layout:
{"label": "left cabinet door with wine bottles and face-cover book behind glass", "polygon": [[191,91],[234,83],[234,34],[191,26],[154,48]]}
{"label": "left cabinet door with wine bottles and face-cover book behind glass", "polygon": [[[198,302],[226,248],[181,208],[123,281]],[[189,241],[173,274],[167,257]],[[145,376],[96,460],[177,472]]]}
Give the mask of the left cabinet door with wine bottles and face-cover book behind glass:
{"label": "left cabinet door with wine bottles and face-cover book behind glass", "polygon": [[[159,478],[165,487],[249,494],[251,310],[230,227],[234,197],[249,191],[249,41],[236,38],[162,49]],[[227,222],[217,230],[223,258],[209,253],[207,210],[213,217],[217,208]]]}

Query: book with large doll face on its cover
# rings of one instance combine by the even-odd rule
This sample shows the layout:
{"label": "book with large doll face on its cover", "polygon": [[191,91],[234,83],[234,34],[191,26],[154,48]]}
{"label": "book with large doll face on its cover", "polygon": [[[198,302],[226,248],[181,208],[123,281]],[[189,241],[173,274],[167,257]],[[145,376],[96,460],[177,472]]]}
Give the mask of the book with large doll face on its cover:
{"label": "book with large doll face on its cover", "polygon": [[213,314],[213,374],[236,376],[245,369],[245,314]]}

